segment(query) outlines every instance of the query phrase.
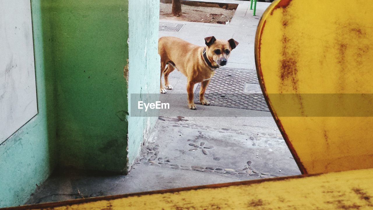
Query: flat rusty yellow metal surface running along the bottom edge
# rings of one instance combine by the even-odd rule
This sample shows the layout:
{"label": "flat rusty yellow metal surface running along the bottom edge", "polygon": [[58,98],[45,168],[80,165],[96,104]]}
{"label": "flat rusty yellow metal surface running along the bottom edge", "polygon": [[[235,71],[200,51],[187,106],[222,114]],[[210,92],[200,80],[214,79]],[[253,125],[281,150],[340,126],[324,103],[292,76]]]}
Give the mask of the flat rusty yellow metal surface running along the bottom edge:
{"label": "flat rusty yellow metal surface running along the bottom edge", "polygon": [[155,193],[87,198],[12,209],[335,210],[373,208],[373,169],[267,179]]}

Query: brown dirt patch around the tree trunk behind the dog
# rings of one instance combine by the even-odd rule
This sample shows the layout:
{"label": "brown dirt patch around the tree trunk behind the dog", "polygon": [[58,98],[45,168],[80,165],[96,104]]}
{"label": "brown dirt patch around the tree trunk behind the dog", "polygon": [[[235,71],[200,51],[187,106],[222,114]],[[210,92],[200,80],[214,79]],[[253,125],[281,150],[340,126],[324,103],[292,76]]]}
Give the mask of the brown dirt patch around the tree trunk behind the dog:
{"label": "brown dirt patch around the tree trunk behind the dog", "polygon": [[235,9],[224,9],[220,7],[189,6],[181,4],[182,16],[171,14],[172,4],[160,3],[159,19],[173,21],[206,22],[226,24],[231,22]]}

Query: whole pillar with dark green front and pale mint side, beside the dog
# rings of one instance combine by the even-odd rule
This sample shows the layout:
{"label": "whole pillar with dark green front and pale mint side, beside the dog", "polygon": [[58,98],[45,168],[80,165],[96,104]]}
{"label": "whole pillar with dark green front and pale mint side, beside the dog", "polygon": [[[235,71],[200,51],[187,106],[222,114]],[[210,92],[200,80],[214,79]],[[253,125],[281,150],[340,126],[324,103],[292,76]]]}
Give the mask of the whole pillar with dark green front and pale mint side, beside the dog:
{"label": "whole pillar with dark green front and pale mint side, beside the dog", "polygon": [[130,96],[158,93],[159,2],[43,1],[56,71],[59,163],[126,173],[157,117],[129,117]]}

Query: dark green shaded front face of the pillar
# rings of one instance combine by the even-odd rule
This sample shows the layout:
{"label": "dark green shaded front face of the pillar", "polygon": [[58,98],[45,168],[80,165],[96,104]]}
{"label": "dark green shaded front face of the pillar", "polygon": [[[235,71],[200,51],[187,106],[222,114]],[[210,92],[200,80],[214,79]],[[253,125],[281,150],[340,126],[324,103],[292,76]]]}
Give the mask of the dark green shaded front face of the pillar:
{"label": "dark green shaded front face of the pillar", "polygon": [[48,0],[59,163],[126,172],[128,1]]}

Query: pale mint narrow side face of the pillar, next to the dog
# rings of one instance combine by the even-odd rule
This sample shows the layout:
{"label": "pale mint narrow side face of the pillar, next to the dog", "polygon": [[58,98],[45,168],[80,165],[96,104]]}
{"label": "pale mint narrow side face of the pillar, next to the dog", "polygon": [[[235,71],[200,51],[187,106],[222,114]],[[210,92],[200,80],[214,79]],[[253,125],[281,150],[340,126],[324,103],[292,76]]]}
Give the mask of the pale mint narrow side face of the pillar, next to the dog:
{"label": "pale mint narrow side face of the pillar, next to the dog", "polygon": [[[131,94],[141,93],[141,99],[159,94],[160,57],[158,55],[159,1],[129,1],[129,84],[128,100]],[[133,102],[133,103],[137,103]],[[131,113],[131,106],[129,106]],[[129,117],[128,162],[133,163],[141,144],[154,127],[158,117]]]}

